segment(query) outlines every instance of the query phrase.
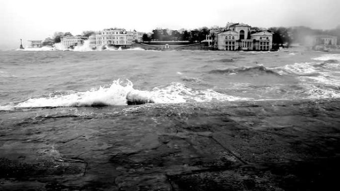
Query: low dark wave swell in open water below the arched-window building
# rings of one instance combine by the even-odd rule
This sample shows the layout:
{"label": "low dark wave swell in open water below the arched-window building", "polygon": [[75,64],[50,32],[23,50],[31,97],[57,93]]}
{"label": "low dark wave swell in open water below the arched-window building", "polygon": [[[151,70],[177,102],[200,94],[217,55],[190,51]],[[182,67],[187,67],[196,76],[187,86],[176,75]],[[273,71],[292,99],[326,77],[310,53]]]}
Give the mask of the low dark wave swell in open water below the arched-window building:
{"label": "low dark wave swell in open water below the arched-window building", "polygon": [[227,69],[214,69],[214,70],[210,70],[209,73],[216,73],[216,74],[267,73],[267,74],[280,75],[276,71],[273,71],[272,69],[266,68],[263,65],[257,65],[257,66],[254,66],[254,67],[237,67],[237,68],[227,68]]}

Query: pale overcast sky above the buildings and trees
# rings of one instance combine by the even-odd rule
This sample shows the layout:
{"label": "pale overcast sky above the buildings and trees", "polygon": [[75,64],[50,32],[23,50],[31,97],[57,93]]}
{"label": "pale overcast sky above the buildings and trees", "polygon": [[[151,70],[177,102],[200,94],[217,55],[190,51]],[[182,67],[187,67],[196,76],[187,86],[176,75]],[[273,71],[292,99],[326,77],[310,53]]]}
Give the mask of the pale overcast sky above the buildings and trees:
{"label": "pale overcast sky above the buildings and trees", "polygon": [[77,35],[116,26],[150,32],[227,22],[331,29],[340,25],[340,0],[0,0],[0,49],[55,31]]}

